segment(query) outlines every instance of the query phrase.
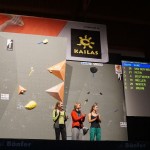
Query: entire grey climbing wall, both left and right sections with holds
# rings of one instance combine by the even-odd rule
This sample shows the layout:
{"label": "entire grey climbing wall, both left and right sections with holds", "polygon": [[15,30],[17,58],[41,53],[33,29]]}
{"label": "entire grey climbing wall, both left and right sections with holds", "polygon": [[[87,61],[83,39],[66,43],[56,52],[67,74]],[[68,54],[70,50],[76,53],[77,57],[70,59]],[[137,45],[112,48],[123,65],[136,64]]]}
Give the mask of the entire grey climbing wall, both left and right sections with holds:
{"label": "entire grey climbing wall, both left and right sections with holds", "polygon": [[[68,140],[75,102],[87,115],[98,103],[102,140],[127,140],[123,83],[114,64],[66,61],[62,37],[1,32],[0,43],[0,138],[55,139],[52,110],[63,101]],[[90,128],[87,117],[84,125]]]}

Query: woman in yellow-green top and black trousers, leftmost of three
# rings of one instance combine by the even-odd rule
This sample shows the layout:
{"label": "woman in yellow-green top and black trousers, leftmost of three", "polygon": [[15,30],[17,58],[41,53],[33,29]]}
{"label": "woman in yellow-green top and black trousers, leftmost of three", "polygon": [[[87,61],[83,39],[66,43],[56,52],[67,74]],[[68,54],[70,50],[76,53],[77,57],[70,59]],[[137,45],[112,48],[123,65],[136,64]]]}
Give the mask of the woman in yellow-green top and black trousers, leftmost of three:
{"label": "woman in yellow-green top and black trousers, leftmost of three", "polygon": [[53,121],[54,121],[56,140],[60,140],[60,135],[61,135],[62,140],[66,140],[67,134],[66,134],[65,122],[67,121],[68,116],[66,116],[66,112],[63,109],[62,102],[58,101],[56,103],[52,115],[53,115]]}

